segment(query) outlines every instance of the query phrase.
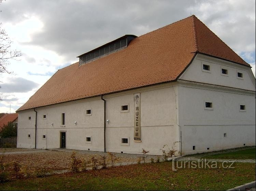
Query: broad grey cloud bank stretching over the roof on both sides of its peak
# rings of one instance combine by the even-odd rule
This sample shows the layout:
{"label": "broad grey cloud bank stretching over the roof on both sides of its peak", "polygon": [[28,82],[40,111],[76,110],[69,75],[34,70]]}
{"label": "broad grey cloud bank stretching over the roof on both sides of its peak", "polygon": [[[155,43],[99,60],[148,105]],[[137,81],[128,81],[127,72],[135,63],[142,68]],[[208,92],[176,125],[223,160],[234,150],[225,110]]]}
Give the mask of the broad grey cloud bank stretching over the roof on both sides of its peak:
{"label": "broad grey cloud bank stretching over the roof on both sides of its peak", "polygon": [[[200,7],[202,3],[209,4],[208,10]],[[214,32],[221,28],[216,34],[233,50],[242,52],[255,47],[255,19],[248,18],[249,13],[255,15],[253,0],[23,0],[2,2],[1,6],[2,22],[17,23],[26,15],[37,16],[44,28],[24,44],[53,50],[67,61],[124,34],[140,36],[188,17],[190,12]],[[216,21],[219,25],[214,29]]]}

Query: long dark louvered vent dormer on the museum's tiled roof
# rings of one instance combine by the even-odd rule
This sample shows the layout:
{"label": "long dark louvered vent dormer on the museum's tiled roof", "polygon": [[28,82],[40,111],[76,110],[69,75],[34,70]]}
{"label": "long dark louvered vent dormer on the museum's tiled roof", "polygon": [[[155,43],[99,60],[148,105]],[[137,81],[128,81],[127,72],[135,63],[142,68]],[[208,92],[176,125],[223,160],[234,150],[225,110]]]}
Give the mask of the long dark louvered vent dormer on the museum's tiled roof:
{"label": "long dark louvered vent dormer on the museum's tiled roof", "polygon": [[136,38],[135,35],[125,35],[123,37],[120,37],[112,42],[109,42],[101,47],[98,47],[94,50],[91,50],[85,54],[82,54],[79,57],[79,65],[91,62],[95,59],[98,59],[102,56],[106,56],[108,54],[111,54],[113,52],[116,52],[118,50],[122,50],[125,47],[127,47],[130,43],[130,41],[133,38]]}

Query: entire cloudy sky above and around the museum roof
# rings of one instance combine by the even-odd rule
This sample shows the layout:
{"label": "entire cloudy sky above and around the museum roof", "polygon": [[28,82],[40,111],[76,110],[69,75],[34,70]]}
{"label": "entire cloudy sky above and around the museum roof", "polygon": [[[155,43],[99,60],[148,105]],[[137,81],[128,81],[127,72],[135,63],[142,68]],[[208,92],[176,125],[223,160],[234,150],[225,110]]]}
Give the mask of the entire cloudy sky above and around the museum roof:
{"label": "entire cloudy sky above and around the museum roof", "polygon": [[255,0],[103,1],[6,0],[0,22],[23,54],[1,74],[0,112],[15,112],[58,69],[76,56],[125,34],[140,36],[196,15],[253,67],[255,75]]}

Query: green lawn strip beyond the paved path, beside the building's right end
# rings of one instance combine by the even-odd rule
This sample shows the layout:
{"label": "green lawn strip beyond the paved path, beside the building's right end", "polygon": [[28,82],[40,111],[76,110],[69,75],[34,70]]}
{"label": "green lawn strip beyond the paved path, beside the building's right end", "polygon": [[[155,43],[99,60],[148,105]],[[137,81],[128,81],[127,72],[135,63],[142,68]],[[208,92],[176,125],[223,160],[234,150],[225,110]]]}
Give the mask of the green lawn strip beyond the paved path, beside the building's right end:
{"label": "green lawn strip beyond the paved path, beside the building's right end", "polygon": [[255,159],[256,152],[255,148],[245,149],[240,151],[221,153],[215,155],[205,156],[203,158],[211,158],[211,159]]}

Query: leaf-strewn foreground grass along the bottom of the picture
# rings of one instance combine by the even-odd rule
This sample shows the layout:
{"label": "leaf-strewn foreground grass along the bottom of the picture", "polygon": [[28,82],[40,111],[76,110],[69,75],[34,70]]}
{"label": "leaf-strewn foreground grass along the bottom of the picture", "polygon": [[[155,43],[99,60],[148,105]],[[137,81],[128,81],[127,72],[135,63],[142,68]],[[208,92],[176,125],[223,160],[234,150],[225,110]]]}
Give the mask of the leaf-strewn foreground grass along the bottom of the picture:
{"label": "leaf-strewn foreground grass along the bottom of the picture", "polygon": [[[218,163],[221,165],[221,163]],[[172,162],[28,178],[0,184],[0,190],[227,190],[255,180],[255,163],[233,169],[178,169]]]}

